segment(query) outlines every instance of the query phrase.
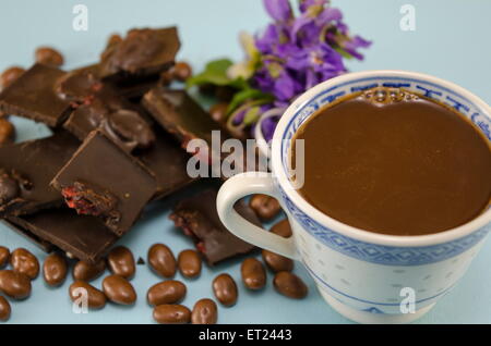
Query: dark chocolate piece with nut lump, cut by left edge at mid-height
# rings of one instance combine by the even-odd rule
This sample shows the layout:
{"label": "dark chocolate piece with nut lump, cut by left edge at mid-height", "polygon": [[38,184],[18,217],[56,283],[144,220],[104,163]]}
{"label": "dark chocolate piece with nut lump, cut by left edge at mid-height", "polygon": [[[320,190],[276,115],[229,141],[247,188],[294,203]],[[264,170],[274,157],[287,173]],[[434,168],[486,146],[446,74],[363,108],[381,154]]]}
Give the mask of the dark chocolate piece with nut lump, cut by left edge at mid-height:
{"label": "dark chocolate piece with nut lump, cut by left edge at mid-height", "polygon": [[49,183],[80,143],[68,133],[0,148],[0,217],[62,205]]}

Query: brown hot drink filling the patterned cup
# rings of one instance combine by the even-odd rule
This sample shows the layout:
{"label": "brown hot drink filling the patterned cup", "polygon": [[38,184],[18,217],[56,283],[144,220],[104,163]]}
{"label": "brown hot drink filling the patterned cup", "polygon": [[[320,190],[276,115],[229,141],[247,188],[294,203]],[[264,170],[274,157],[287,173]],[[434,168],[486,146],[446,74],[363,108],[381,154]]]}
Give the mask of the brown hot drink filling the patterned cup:
{"label": "brown hot drink filling the patterned cup", "polygon": [[[489,140],[454,108],[397,88],[327,104],[304,143],[300,195],[348,225],[423,235],[463,225],[490,205]],[[295,141],[291,161],[296,158]]]}

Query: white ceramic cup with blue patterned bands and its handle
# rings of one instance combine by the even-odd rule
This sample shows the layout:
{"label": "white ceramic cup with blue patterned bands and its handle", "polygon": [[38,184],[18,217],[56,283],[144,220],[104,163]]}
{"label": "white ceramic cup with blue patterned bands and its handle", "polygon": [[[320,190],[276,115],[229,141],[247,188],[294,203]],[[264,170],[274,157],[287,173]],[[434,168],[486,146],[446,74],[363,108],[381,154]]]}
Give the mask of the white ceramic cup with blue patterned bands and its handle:
{"label": "white ceramic cup with blue patterned bands and its handle", "polygon": [[[394,236],[336,221],[291,187],[289,147],[300,125],[336,98],[375,86],[403,87],[451,104],[491,140],[490,107],[455,84],[404,71],[345,74],[308,90],[286,110],[272,140],[272,173],[231,177],[218,194],[217,209],[220,220],[238,237],[301,261],[321,295],[343,316],[362,323],[405,323],[429,311],[466,272],[490,230],[491,208],[453,230]],[[266,194],[280,201],[292,237],[265,232],[233,210],[238,199],[251,194]],[[411,300],[412,310],[408,305]]]}

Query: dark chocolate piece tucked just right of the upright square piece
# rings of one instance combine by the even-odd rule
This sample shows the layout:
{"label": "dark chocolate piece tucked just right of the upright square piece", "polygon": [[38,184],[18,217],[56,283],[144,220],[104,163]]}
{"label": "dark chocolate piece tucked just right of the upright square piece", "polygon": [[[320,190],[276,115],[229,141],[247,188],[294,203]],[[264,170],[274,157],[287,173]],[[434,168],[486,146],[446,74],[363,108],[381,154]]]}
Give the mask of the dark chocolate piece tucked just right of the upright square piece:
{"label": "dark chocolate piece tucked just right of the upright square piece", "polygon": [[195,181],[187,172],[190,156],[182,150],[168,133],[155,129],[156,140],[152,149],[136,157],[148,168],[157,180],[154,199],[164,198]]}

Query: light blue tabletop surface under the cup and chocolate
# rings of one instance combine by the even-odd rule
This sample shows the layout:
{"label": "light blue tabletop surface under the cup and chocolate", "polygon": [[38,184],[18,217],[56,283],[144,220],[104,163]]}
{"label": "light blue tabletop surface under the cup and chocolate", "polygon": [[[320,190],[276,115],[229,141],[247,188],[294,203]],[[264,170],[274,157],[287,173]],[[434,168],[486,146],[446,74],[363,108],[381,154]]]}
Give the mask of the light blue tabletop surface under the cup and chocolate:
{"label": "light blue tabletop surface under the cup and chocolate", "polygon": [[[352,71],[402,69],[419,71],[452,81],[491,103],[491,1],[488,0],[345,0],[333,1],[345,13],[354,33],[373,39],[366,61],[349,63]],[[85,3],[89,10],[88,32],[73,32],[72,7]],[[416,32],[399,29],[399,8],[416,7]],[[33,62],[34,49],[51,45],[65,55],[65,67],[97,60],[106,38],[113,32],[134,26],[179,25],[182,39],[180,59],[190,61],[196,70],[214,58],[240,59],[237,41],[240,30],[256,32],[264,27],[266,16],[256,0],[44,0],[0,2],[0,70]],[[46,132],[39,125],[16,120],[20,139]],[[144,220],[122,239],[135,254],[146,258],[148,247],[161,242],[177,254],[192,247],[188,238],[175,230],[167,217],[167,200],[153,206]],[[27,247],[36,256],[45,255],[3,225],[0,244],[10,248]],[[468,273],[436,308],[418,323],[491,323],[491,242],[484,244]],[[239,262],[228,262],[214,269],[204,268],[199,280],[184,282],[192,307],[202,297],[212,297],[211,281],[220,272],[229,272],[240,280]],[[240,298],[233,308],[219,307],[220,323],[347,323],[348,321],[323,302],[306,270],[297,263],[296,272],[309,284],[309,297],[296,301],[279,296],[272,288],[268,276],[266,289],[246,291],[239,283]],[[178,279],[181,276],[178,274]],[[14,323],[148,323],[152,309],[145,302],[146,289],[158,282],[146,265],[139,265],[133,279],[139,301],[131,308],[108,305],[104,310],[74,314],[68,298],[68,281],[62,287],[48,288],[41,279],[34,282],[33,296],[12,304]],[[100,280],[95,282],[100,286]]]}

